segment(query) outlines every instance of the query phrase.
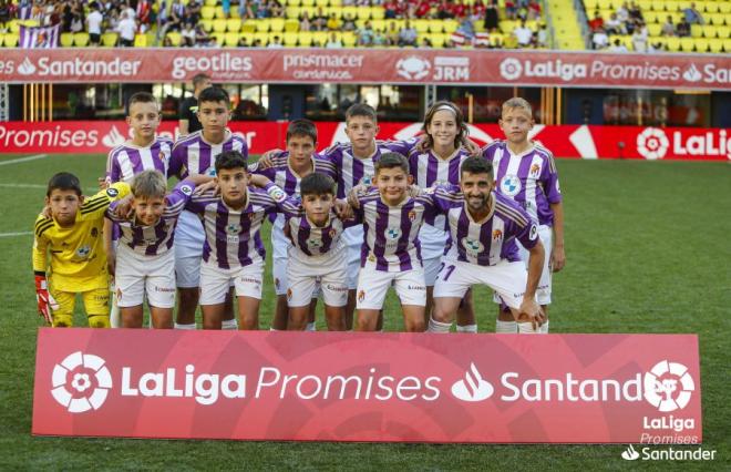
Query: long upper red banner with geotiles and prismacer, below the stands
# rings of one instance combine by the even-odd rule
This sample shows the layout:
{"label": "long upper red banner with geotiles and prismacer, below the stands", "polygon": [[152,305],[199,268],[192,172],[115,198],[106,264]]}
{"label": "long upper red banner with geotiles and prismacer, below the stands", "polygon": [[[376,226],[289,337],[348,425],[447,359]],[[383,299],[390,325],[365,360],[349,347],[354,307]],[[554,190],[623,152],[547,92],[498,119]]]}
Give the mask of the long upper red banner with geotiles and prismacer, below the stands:
{"label": "long upper red banner with geotiles and prismacer, below the stands", "polygon": [[431,49],[3,49],[0,82],[503,84],[731,90],[729,54]]}

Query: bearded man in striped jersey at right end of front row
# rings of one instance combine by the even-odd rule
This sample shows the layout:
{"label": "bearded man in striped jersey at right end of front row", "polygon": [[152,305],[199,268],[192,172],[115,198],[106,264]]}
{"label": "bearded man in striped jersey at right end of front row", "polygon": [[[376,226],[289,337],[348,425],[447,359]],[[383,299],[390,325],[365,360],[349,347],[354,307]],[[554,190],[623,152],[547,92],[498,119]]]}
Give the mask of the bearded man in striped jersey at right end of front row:
{"label": "bearded man in striped jersey at right end of front row", "polygon": [[[446,215],[452,247],[434,286],[432,332],[449,332],[464,294],[487,285],[509,307],[519,332],[539,332],[545,319],[535,300],[544,249],[535,220],[509,198],[493,192],[493,168],[482,157],[462,163],[460,189],[430,189]],[[516,239],[529,252],[528,270]]]}

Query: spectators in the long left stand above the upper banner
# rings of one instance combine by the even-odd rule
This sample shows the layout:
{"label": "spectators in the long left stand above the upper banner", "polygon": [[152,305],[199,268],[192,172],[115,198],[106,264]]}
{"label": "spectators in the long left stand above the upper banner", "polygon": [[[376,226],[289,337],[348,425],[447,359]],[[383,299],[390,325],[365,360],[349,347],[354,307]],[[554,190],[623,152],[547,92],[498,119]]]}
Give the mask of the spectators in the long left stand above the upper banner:
{"label": "spectators in the long left stand above the upper banner", "polygon": [[[205,4],[204,4],[205,2]],[[548,31],[542,20],[538,0],[341,0],[342,7],[380,7],[380,27],[358,14],[338,14],[321,7],[295,18],[297,31],[327,32],[327,39],[311,45],[325,48],[359,47],[432,47],[429,34],[413,25],[419,20],[450,20],[457,24],[437,47],[475,48],[545,48]],[[37,25],[60,24],[64,33],[89,33],[90,45],[97,45],[103,34],[114,34],[116,45],[132,47],[135,37],[150,34],[153,43],[165,47],[213,47],[222,44],[210,24],[202,22],[202,10],[210,8],[205,0],[0,0],[0,32],[10,20],[32,20]],[[279,0],[223,0],[216,3],[224,19],[248,20],[288,17],[288,9]],[[313,11],[313,13],[312,13]],[[339,10],[341,12],[342,10]],[[404,20],[399,24],[388,20]],[[292,20],[291,16],[288,20]],[[509,20],[506,31],[501,20]],[[172,34],[171,34],[172,33]],[[344,44],[341,34],[356,35],[354,44]],[[284,47],[281,35],[261,39],[241,38],[238,47]],[[322,37],[319,37],[322,38]],[[112,45],[104,42],[105,45]],[[226,43],[226,45],[233,45]],[[289,44],[288,44],[289,45]]]}

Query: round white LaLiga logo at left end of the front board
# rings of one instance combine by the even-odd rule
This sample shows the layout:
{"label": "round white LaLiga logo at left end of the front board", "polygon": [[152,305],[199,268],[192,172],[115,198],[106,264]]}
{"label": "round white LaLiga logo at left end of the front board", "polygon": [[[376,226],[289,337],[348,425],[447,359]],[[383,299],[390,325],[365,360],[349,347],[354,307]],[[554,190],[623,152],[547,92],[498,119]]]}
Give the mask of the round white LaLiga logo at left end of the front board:
{"label": "round white LaLiga logo at left end of the front board", "polygon": [[[82,368],[82,369],[80,369]],[[90,378],[93,371],[96,387]],[[69,384],[69,373],[74,372]],[[70,413],[99,410],[112,388],[112,376],[104,366],[104,359],[76,351],[56,363],[52,377],[51,394]],[[69,389],[71,387],[71,389]]]}

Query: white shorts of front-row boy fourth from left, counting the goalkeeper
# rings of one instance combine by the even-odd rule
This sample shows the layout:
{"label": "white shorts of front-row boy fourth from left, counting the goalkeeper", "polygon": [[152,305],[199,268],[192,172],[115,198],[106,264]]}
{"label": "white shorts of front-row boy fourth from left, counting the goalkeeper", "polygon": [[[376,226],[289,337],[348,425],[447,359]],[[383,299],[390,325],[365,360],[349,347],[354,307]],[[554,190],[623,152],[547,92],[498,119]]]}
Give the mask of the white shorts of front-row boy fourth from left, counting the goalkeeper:
{"label": "white shorts of front-row boy fourth from left, counting the goalkeeper", "polygon": [[[300,253],[297,256],[294,253]],[[348,302],[346,249],[332,254],[308,257],[296,247],[289,249],[287,264],[287,305],[303,307],[317,297],[318,287],[330,307],[344,307]]]}

